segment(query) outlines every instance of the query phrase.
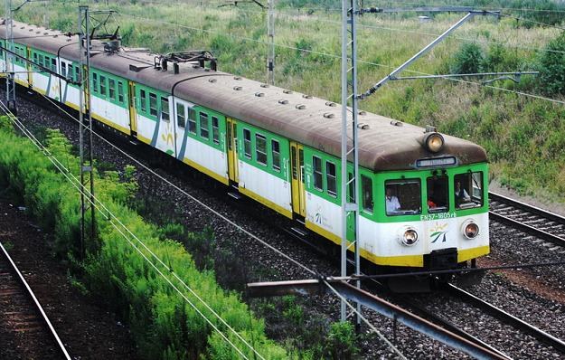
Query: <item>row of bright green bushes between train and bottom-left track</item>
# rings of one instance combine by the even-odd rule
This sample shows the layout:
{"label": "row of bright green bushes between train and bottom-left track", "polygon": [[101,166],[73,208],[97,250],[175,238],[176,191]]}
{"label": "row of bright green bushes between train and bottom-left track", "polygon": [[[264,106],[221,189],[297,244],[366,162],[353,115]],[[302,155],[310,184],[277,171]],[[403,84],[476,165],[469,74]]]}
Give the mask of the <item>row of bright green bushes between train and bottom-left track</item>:
{"label": "row of bright green bushes between train and bottom-left track", "polygon": [[[0,120],[0,124],[5,124],[5,120]],[[77,175],[78,159],[71,155],[69,142],[58,131],[48,133],[46,146],[53,156],[68,164],[71,173],[75,172],[72,175]],[[125,172],[131,173],[131,169]],[[119,215],[120,222],[135,233],[146,248],[131,236],[125,239],[117,230],[119,226],[115,220],[98,213],[97,245],[87,247],[84,261],[76,261],[80,253],[80,200],[77,190],[27,139],[17,137],[5,125],[0,128],[0,184],[10,184],[11,192],[21,194],[24,204],[45,230],[53,233],[57,253],[68,255],[71,263],[80,266],[84,283],[82,290],[99,297],[100,302],[127,319],[140,355],[148,359],[238,358],[236,351],[194,309],[198,308],[243,354],[253,357],[239,338],[178,279],[174,279],[167,269],[170,268],[259,354],[269,359],[287,358],[281,347],[267,339],[263,321],[253,317],[239,296],[222,290],[212,271],[199,272],[181,243],[163,240],[164,232],[146,223],[127,207],[128,199],[137,188],[132,185],[131,179],[118,182],[116,172],[105,176],[94,174],[97,197],[106,204],[109,212]],[[165,232],[179,234],[180,231],[178,227],[171,226]],[[147,249],[153,251],[166,266],[155,261]],[[142,254],[180,289],[193,306]]]}

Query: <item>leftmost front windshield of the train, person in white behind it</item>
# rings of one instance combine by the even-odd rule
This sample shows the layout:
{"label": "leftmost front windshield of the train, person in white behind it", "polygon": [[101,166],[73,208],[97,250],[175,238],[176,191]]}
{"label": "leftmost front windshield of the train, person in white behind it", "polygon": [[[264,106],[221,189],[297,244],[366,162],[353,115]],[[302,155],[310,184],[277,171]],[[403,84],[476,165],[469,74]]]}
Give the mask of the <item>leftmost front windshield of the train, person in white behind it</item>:
{"label": "leftmost front windshield of the train, person in white behind it", "polygon": [[389,180],[384,183],[386,214],[411,215],[422,212],[419,179]]}

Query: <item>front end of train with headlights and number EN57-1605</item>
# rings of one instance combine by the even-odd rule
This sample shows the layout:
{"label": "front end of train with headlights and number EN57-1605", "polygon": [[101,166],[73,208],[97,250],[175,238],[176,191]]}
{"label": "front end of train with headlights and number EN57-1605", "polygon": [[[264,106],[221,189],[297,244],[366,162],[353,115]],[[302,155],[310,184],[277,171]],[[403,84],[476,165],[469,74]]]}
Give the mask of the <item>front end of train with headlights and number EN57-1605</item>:
{"label": "front end of train with headlights and number EN57-1605", "polygon": [[[435,129],[419,134],[416,147],[396,147],[387,159],[391,169],[375,171],[380,185],[374,194],[376,222],[365,229],[374,231],[374,241],[367,244],[371,260],[395,272],[475,266],[476,258],[489,253],[485,150]],[[457,279],[477,280],[468,274]],[[404,286],[407,281],[390,282]]]}

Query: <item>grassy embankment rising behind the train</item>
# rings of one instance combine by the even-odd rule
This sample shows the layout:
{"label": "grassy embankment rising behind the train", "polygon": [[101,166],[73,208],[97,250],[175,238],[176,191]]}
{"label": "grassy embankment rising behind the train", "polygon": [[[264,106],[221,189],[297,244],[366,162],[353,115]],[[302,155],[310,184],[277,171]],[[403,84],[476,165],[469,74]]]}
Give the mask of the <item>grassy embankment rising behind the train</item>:
{"label": "grassy embankment rising behind the train", "polygon": [[[259,8],[202,8],[184,3],[116,5],[124,43],[155,52],[210,49],[219,58],[222,71],[265,80],[267,39],[265,16]],[[72,31],[76,14],[70,9],[74,10],[70,4],[48,8],[29,5],[18,17],[33,24],[49,20],[52,28]],[[338,16],[319,10],[314,14],[279,11],[276,43],[282,46],[277,48],[278,86],[340,100]],[[420,24],[413,15],[365,15],[361,24],[366,26],[359,28],[360,89],[368,89],[457,18],[457,14],[438,15],[432,23]],[[454,71],[456,52],[462,44],[474,42],[485,58],[482,71],[537,70],[542,50],[560,31],[522,24],[526,23],[509,18],[476,18],[410,70]],[[405,72],[410,74],[414,73]],[[497,81],[494,86],[538,94],[543,90],[532,77],[523,77],[520,84]],[[551,97],[564,99],[562,95]],[[439,131],[476,141],[488,151],[491,176],[496,181],[522,194],[565,202],[565,168],[561,166],[565,162],[565,123],[561,121],[565,107],[561,104],[463,82],[420,80],[389,83],[361,106],[410,123],[435,125]]]}

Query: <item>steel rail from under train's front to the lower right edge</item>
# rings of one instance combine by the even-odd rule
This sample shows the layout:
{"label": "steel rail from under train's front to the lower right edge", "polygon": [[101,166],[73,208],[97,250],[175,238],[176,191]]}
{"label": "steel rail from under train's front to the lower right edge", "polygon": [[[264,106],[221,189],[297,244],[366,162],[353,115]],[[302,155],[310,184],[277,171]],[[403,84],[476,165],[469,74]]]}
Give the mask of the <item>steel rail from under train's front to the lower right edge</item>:
{"label": "steel rail from under train's front to the lower right edge", "polygon": [[532,326],[531,324],[523,321],[523,319],[521,318],[514,317],[512,314],[507,313],[501,308],[496,308],[493,304],[485,301],[482,298],[476,297],[475,295],[467,292],[464,289],[459,289],[453,284],[446,284],[446,289],[447,292],[451,293],[452,295],[455,295],[459,298],[464,298],[465,300],[474,303],[479,308],[485,309],[485,311],[487,311],[494,317],[498,318],[501,321],[504,321],[504,323],[510,324],[513,327],[522,330],[524,333],[537,338],[547,345],[553,346],[556,350],[565,354],[565,342],[563,340],[560,340],[559,338],[552,336],[551,334],[548,334],[537,327]]}

